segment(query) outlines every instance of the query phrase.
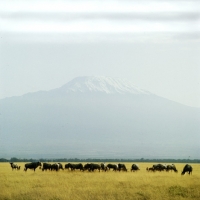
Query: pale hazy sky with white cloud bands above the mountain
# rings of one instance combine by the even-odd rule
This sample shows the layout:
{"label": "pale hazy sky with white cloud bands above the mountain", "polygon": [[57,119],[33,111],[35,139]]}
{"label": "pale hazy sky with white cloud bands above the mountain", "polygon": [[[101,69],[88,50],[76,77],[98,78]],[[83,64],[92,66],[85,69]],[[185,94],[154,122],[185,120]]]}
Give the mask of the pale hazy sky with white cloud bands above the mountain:
{"label": "pale hazy sky with white cloud bands above the mountain", "polygon": [[0,99],[87,75],[200,107],[200,1],[0,0]]}

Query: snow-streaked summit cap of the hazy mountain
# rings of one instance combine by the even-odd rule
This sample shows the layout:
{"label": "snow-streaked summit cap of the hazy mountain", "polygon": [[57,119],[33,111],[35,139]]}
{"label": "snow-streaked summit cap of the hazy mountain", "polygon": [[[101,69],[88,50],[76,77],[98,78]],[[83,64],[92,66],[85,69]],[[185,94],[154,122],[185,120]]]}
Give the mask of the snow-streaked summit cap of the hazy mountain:
{"label": "snow-streaked summit cap of the hazy mountain", "polygon": [[103,76],[77,77],[62,86],[61,89],[66,93],[103,92],[106,94],[150,94],[150,92],[140,89],[128,81]]}

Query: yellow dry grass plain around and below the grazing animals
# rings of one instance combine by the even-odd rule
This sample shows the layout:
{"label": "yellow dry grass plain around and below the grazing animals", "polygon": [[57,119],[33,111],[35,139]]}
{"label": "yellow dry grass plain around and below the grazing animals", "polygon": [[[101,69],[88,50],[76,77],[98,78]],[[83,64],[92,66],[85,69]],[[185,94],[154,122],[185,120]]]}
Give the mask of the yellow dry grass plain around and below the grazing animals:
{"label": "yellow dry grass plain around and below the grazing animals", "polygon": [[[195,200],[200,199],[200,164],[192,175],[181,176],[185,164],[175,172],[147,172],[152,163],[139,163],[140,171],[128,172],[23,171],[0,163],[0,200]],[[65,163],[63,163],[64,165]],[[83,163],[84,164],[84,163]]]}

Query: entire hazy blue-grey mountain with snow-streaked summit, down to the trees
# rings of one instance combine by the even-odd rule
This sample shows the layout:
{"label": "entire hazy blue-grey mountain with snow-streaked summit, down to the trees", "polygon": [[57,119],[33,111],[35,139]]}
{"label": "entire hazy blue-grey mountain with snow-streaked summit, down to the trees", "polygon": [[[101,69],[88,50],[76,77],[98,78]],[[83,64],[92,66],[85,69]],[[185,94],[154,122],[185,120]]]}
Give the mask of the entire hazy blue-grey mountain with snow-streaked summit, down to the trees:
{"label": "entire hazy blue-grey mountain with snow-streaked summit, down to the trees", "polygon": [[0,157],[200,158],[200,109],[120,79],[77,77],[0,100]]}

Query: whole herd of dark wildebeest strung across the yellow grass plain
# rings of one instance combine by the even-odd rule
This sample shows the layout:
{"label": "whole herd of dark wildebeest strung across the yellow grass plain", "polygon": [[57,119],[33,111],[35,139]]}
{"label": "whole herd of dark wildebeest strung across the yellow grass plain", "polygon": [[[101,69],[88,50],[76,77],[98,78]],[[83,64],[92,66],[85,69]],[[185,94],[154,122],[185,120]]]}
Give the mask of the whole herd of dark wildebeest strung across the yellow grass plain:
{"label": "whole herd of dark wildebeest strung across the yellow grass plain", "polygon": [[[20,170],[20,166],[18,164],[15,163],[10,163],[12,170],[17,169]],[[35,169],[39,167],[42,171],[59,171],[59,170],[71,170],[71,171],[75,171],[75,170],[80,170],[80,171],[89,171],[89,172],[94,172],[96,170],[100,171],[128,171],[127,167],[125,164],[105,164],[105,163],[101,163],[101,164],[97,164],[97,163],[87,163],[87,164],[82,164],[82,163],[67,163],[64,165],[62,163],[54,163],[54,164],[50,164],[50,163],[41,163],[41,162],[32,162],[32,163],[26,163],[24,165],[24,171],[27,171],[27,169],[32,169],[35,171]],[[130,171],[134,172],[134,171],[138,171],[140,170],[139,165],[138,164],[132,164]],[[185,173],[188,174],[192,174],[192,166],[189,164],[186,164],[183,168],[183,171],[181,173],[181,175],[184,175]],[[174,164],[154,164],[152,167],[147,167],[146,171],[148,172],[156,172],[156,171],[174,171],[176,173],[178,173],[178,170],[176,169],[176,166]]]}

